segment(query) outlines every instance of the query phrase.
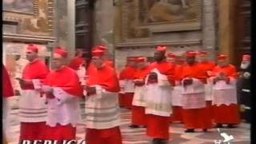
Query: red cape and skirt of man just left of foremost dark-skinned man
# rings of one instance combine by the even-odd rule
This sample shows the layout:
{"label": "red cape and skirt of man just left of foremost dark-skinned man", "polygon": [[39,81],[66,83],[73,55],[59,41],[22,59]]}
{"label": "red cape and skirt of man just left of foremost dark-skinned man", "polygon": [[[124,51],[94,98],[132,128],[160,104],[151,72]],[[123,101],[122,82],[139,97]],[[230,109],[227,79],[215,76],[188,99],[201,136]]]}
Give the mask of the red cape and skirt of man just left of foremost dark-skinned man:
{"label": "red cape and skirt of man just left of foremost dark-skinned man", "polygon": [[[142,69],[142,70],[136,70],[135,74],[134,74],[134,79],[138,79],[138,80],[143,80],[145,81],[146,75],[149,73],[149,69],[148,67]],[[135,86],[144,86],[144,84],[139,84]],[[143,98],[142,98],[143,99]],[[136,100],[136,99],[134,99]],[[140,106],[137,106],[135,103],[133,102],[133,106],[132,106],[132,111],[131,111],[131,123],[132,125],[137,125],[137,126],[146,126],[146,114],[145,114],[145,105],[142,106],[142,102],[140,102]]]}

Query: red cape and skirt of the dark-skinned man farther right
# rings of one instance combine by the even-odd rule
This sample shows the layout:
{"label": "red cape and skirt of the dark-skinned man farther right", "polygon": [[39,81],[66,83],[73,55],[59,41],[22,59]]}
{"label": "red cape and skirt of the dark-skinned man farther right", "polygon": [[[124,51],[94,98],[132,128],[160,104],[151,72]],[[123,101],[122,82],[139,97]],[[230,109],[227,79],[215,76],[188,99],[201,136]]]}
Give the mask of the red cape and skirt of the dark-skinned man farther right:
{"label": "red cape and skirt of the dark-skinned man farther right", "polygon": [[[182,78],[195,78],[201,81],[201,83],[206,83],[206,71],[203,69],[203,67],[195,63],[192,66],[185,65],[182,68]],[[193,81],[194,83],[194,81]],[[202,90],[204,90],[204,86],[202,85]],[[186,129],[208,129],[212,127],[212,122],[210,120],[210,114],[208,114],[208,110],[206,109],[206,103],[205,103],[205,97],[204,93],[202,92],[202,99],[197,99],[196,104],[198,105],[196,107],[200,108],[184,108],[183,106],[183,122]],[[183,94],[184,97],[191,97],[193,98],[194,95],[197,94]]]}

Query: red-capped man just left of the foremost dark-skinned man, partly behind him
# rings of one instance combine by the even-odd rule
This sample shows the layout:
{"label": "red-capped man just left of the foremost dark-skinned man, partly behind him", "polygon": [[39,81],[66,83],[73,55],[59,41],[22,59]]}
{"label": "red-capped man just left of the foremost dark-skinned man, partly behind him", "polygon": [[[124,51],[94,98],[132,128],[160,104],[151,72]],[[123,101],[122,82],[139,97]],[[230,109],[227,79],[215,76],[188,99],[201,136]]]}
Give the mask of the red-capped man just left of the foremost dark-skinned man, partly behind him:
{"label": "red-capped man just left of the foremost dark-skinned man, partly behind him", "polygon": [[135,61],[137,62],[137,70],[134,74],[135,90],[131,109],[131,128],[146,126],[145,79],[149,73],[149,66],[146,63],[145,57],[138,57]]}

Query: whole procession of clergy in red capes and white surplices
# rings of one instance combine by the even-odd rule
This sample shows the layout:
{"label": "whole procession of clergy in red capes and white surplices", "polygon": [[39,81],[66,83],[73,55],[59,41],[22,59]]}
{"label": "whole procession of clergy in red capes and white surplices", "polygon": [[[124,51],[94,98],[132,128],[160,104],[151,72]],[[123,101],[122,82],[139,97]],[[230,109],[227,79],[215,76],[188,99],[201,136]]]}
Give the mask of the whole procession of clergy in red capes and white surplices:
{"label": "whole procession of clergy in red capes and white surplices", "polygon": [[[226,54],[219,54],[214,64],[206,51],[177,56],[166,54],[166,46],[156,46],[154,62],[143,56],[127,57],[126,67],[117,73],[106,59],[106,50],[94,46],[85,69],[79,54],[69,66],[66,50],[56,47],[49,70],[38,59],[38,47],[27,46],[29,63],[22,78],[16,78],[22,87],[20,142],[75,139],[81,98],[86,106],[87,144],[122,144],[120,107],[131,110],[130,128],[145,128],[155,144],[170,139],[172,122],[183,123],[186,133],[238,126],[238,74]],[[250,61],[250,55],[242,60]],[[14,94],[6,72],[3,80],[8,98]]]}

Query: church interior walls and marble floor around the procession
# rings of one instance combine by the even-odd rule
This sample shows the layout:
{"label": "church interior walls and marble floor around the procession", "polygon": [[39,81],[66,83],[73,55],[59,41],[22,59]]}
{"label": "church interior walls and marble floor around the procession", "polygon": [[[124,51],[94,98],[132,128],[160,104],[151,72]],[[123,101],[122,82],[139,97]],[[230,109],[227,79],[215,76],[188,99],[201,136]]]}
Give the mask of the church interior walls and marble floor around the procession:
{"label": "church interior walls and marble floor around the procession", "polygon": [[[26,46],[38,46],[38,57],[51,66],[54,47],[69,52],[68,59],[82,50],[90,62],[91,50],[101,44],[120,73],[126,58],[142,55],[154,59],[155,46],[182,56],[188,50],[206,51],[217,62],[218,54],[239,69],[242,55],[250,54],[249,0],[3,0],[2,61],[15,78],[26,66]],[[9,144],[19,138],[18,99],[10,99],[7,126]],[[85,103],[80,102],[82,118]],[[124,144],[147,144],[145,129],[130,129],[130,110],[121,108],[121,132]],[[84,139],[84,119],[78,123],[76,138]],[[181,123],[170,124],[168,143],[206,144],[222,139],[218,129],[209,133],[186,134]],[[250,143],[250,124],[222,129],[234,136],[232,143]]]}

